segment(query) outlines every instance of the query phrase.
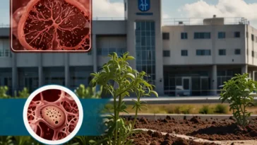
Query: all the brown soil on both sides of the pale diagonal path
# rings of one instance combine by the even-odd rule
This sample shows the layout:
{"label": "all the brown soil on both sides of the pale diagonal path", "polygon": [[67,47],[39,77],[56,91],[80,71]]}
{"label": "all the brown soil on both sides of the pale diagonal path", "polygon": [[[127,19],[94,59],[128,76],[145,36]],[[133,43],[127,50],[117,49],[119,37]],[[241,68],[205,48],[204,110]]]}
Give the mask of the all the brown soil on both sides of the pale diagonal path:
{"label": "all the brown soil on both sides of the pale diagonal path", "polygon": [[[131,119],[131,117],[128,117],[128,120]],[[255,120],[251,120],[250,124],[245,128],[239,127],[232,117],[227,120],[215,120],[213,118],[210,120],[201,120],[200,117],[174,120],[174,118],[167,116],[164,120],[155,121],[140,118],[136,122],[136,128],[153,129],[157,131],[152,134],[150,134],[150,132],[133,134],[132,138],[138,145],[200,144],[192,140],[179,139],[178,137],[165,137],[162,136],[160,132],[167,132],[169,134],[185,134],[187,136],[208,139],[210,141],[257,140],[257,118]],[[177,143],[179,141],[180,143]]]}

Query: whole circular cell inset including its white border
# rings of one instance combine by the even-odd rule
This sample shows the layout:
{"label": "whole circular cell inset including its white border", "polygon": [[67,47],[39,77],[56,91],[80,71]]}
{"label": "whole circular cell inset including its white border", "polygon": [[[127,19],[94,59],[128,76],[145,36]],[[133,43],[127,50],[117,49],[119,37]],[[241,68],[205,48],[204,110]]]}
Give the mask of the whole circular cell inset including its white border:
{"label": "whole circular cell inset including its white border", "polygon": [[80,100],[68,88],[49,85],[34,91],[25,103],[23,121],[32,137],[43,144],[64,144],[83,121]]}

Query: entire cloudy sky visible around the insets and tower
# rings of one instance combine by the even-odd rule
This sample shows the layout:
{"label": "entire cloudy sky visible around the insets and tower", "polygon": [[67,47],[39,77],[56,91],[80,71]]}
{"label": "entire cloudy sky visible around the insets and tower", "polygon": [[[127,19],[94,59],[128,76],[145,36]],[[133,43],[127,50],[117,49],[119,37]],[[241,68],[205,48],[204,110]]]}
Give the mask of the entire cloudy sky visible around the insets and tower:
{"label": "entire cloudy sky visible around the insets and tower", "polygon": [[[9,23],[9,1],[1,0],[0,25]],[[93,17],[124,17],[124,0],[92,0]],[[257,28],[257,0],[162,0],[162,18],[244,17]]]}

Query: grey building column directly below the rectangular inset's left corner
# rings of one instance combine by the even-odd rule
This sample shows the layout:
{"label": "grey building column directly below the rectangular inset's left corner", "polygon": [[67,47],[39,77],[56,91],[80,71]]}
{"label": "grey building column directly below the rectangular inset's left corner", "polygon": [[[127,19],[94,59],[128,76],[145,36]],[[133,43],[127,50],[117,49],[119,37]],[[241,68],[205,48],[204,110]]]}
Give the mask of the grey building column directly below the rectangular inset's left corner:
{"label": "grey building column directly below the rectangular inset's left corner", "polygon": [[17,91],[17,84],[18,84],[18,69],[17,69],[17,59],[16,59],[16,54],[13,53],[12,54],[12,79],[11,79],[11,83],[12,83],[12,94],[13,96],[16,95],[16,91]]}

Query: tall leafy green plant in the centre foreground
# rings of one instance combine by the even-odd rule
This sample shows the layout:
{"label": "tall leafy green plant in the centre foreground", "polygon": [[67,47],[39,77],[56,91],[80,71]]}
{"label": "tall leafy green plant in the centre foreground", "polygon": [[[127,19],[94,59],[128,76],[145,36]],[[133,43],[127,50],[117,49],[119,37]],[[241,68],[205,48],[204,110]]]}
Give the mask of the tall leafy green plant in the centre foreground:
{"label": "tall leafy green plant in the centre foreground", "polygon": [[[108,117],[109,121],[106,122],[107,135],[101,141],[97,141],[97,144],[129,145],[133,142],[133,140],[128,140],[128,137],[133,132],[138,111],[144,107],[140,100],[141,97],[150,94],[157,95],[157,93],[153,91],[153,86],[144,80],[147,76],[144,71],[138,72],[128,65],[128,60],[134,59],[128,52],[121,57],[118,57],[116,53],[109,54],[109,57],[110,60],[107,64],[104,64],[102,71],[92,74],[94,78],[90,82],[92,86],[103,86],[104,90],[114,98],[114,115],[110,115]],[[124,98],[131,94],[136,94],[137,97],[136,100],[133,100],[136,115],[132,124],[125,124],[124,119],[119,114],[120,112],[126,112],[127,106]]]}

